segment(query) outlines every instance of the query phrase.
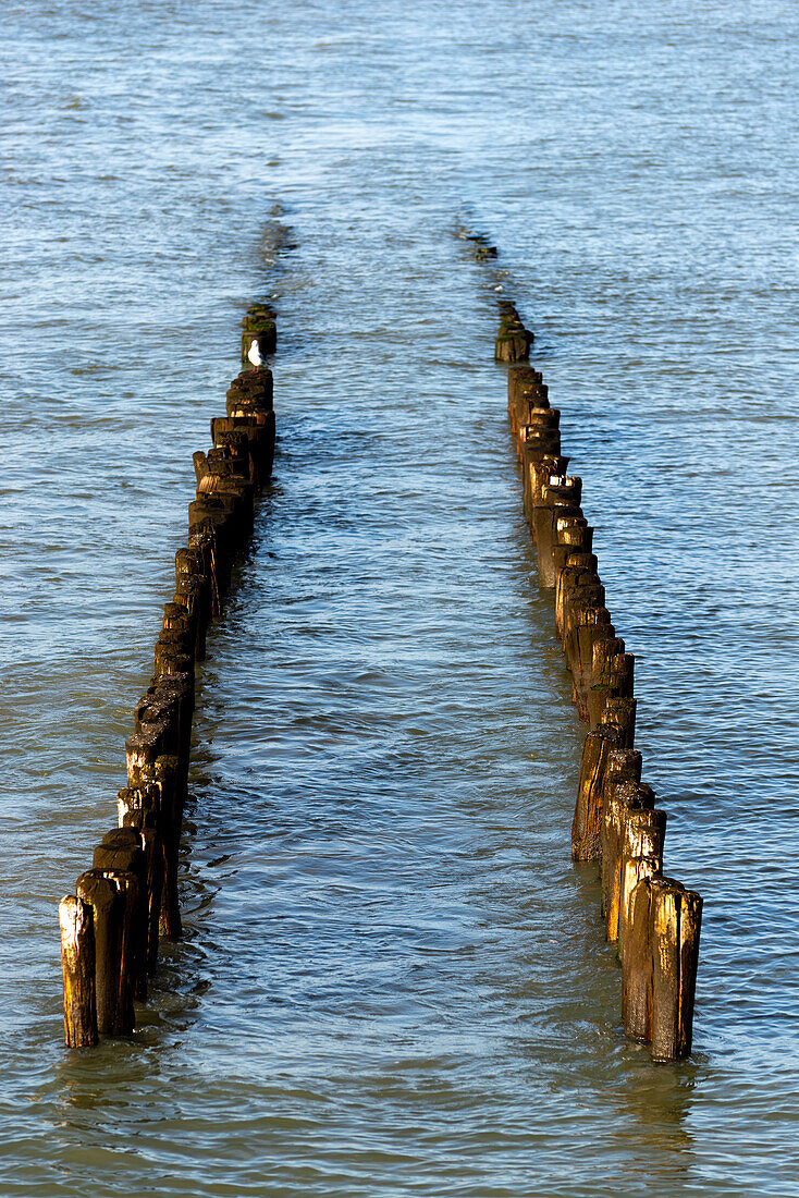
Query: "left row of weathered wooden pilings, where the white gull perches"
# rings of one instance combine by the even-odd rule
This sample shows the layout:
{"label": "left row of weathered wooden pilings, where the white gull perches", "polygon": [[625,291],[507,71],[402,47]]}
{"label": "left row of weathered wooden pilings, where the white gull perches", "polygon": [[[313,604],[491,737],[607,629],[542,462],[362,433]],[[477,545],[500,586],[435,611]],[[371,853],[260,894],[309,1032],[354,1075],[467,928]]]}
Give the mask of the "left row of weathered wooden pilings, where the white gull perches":
{"label": "left row of weathered wooden pilings, where the white gull perches", "polygon": [[137,1002],[147,997],[158,942],[181,936],[178,848],[186,801],[195,664],[206,629],[223,612],[236,557],[253,531],[254,506],[272,473],[272,371],[247,369],[253,341],[276,347],[267,304],[243,321],[242,364],[225,416],[211,420],[212,448],[194,454],[196,494],[187,544],[175,557],[175,594],[164,605],[153,677],[133,710],[125,743],[127,786],[117,795],[117,827],[96,846],[92,867],[62,898],[63,1023],[71,1047],[133,1031]]}

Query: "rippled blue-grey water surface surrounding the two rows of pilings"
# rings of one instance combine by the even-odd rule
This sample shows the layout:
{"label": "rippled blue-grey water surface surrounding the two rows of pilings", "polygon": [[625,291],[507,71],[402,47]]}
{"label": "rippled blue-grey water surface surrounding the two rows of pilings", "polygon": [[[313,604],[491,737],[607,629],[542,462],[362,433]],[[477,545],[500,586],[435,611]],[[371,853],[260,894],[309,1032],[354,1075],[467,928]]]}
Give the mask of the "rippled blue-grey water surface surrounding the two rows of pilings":
{"label": "rippled blue-grey water surface surrounding the two rows of pilings", "polygon": [[[14,2],[0,1192],[799,1193],[799,10]],[[690,1064],[619,1027],[491,274],[537,333],[666,864]],[[186,939],[61,1045],[56,904],[258,296],[279,458],[200,682]]]}

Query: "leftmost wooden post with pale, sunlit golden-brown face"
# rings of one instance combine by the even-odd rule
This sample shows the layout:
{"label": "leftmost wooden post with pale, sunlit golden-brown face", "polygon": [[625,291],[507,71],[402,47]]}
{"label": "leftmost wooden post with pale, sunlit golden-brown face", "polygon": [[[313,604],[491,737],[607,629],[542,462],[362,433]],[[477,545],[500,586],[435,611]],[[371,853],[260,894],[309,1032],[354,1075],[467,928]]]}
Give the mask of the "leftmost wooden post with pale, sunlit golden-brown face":
{"label": "leftmost wooden post with pale, sunlit golden-brown face", "polygon": [[95,993],[95,916],[89,903],[66,895],[59,904],[63,1034],[68,1048],[97,1043]]}

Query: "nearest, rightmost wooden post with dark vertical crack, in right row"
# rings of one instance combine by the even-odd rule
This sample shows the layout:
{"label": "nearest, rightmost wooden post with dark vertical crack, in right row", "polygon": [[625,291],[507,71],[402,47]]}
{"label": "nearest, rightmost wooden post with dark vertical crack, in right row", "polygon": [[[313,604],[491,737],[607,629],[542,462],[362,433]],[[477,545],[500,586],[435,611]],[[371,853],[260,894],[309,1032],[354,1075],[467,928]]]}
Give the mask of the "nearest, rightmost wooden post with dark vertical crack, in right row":
{"label": "nearest, rightmost wooden post with dark vertical crack, in right row", "polygon": [[670,878],[653,879],[652,1059],[682,1060],[694,1039],[702,898]]}

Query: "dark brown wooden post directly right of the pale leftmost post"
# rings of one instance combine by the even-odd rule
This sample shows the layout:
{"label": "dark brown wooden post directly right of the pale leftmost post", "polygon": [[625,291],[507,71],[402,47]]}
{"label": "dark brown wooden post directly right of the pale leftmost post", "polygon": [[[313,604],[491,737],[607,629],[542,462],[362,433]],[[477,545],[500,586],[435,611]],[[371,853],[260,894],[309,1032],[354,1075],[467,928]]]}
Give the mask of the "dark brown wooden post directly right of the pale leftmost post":
{"label": "dark brown wooden post directly right of the pale leftmost post", "polygon": [[122,1005],[120,993],[125,902],[102,870],[81,873],[77,895],[93,916],[97,1030],[101,1036],[127,1035],[133,1030],[133,1006]]}

